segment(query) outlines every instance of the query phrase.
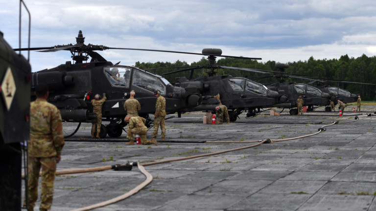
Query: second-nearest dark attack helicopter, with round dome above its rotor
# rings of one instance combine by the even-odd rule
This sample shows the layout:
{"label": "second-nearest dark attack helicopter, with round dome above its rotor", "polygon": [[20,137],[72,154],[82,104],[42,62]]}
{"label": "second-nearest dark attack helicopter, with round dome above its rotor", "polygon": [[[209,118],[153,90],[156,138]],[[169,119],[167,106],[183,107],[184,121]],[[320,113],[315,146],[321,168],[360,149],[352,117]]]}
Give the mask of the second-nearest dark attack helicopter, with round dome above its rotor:
{"label": "second-nearest dark attack helicopter, with round dome above its rotor", "polygon": [[[235,122],[238,115],[244,110],[248,110],[247,117],[254,117],[260,113],[261,108],[268,108],[271,105],[282,104],[287,102],[287,97],[283,91],[278,92],[271,90],[268,87],[251,81],[246,78],[232,77],[231,75],[216,76],[216,70],[219,68],[224,69],[238,69],[244,71],[269,73],[263,70],[255,70],[240,67],[229,67],[215,64],[217,56],[222,55],[221,49],[205,48],[202,50],[202,54],[211,54],[208,56],[209,64],[198,66],[184,66],[184,67],[171,67],[171,68],[183,68],[176,71],[164,73],[162,75],[174,74],[178,72],[190,71],[189,80],[186,77],[176,78],[177,82],[174,84],[178,87],[190,87],[194,86],[203,96],[201,105],[195,107],[189,107],[182,109],[181,111],[211,111],[214,112],[215,107],[219,104],[218,99],[213,96],[220,94],[220,101],[223,105],[226,105],[229,109],[230,121]],[[238,59],[247,59],[244,57],[230,57]],[[255,58],[252,58],[255,59]],[[154,69],[165,69],[153,68]],[[197,69],[209,69],[206,76],[192,79],[193,71]]]}

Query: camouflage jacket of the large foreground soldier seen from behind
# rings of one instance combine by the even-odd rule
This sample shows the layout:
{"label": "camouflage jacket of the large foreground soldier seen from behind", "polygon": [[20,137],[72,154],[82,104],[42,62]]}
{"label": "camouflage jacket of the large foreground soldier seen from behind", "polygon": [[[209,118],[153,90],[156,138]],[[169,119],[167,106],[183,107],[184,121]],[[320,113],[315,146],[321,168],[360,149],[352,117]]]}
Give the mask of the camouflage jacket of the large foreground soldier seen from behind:
{"label": "camouflage jacket of the large foreground soldier seen from behind", "polygon": [[60,110],[46,100],[30,104],[30,157],[53,157],[61,154],[64,146]]}

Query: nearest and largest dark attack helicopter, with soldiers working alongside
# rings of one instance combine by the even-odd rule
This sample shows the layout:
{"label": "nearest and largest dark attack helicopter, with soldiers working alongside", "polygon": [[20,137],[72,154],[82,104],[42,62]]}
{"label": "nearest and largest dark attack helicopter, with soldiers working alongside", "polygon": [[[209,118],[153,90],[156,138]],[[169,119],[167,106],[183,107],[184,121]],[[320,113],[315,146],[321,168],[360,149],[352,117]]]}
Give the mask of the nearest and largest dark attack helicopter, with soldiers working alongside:
{"label": "nearest and largest dark attack helicopter, with soldiers working alongside", "polygon": [[[14,50],[39,50],[55,52],[68,50],[72,60],[51,69],[34,72],[31,75],[32,98],[33,88],[37,84],[47,84],[49,97],[47,101],[56,105],[65,121],[79,122],[77,128],[69,136],[74,135],[81,122],[94,118],[91,100],[95,94],[106,94],[107,100],[102,106],[102,117],[109,121],[102,125],[99,136],[119,137],[126,126],[124,102],[129,98],[131,90],[136,92],[135,98],[141,104],[139,115],[146,119],[150,127],[153,120],[149,113],[155,112],[156,97],[154,90],[159,90],[166,99],[166,112],[194,107],[201,104],[202,96],[194,86],[185,88],[171,85],[164,77],[133,66],[113,64],[100,56],[97,50],[130,49],[110,48],[103,45],[84,44],[80,30],[75,44],[56,45],[53,47],[19,48]],[[135,50],[135,49],[131,49]],[[147,50],[147,49],[136,49]],[[91,57],[90,62],[84,63]],[[69,137],[68,136],[68,137]]]}

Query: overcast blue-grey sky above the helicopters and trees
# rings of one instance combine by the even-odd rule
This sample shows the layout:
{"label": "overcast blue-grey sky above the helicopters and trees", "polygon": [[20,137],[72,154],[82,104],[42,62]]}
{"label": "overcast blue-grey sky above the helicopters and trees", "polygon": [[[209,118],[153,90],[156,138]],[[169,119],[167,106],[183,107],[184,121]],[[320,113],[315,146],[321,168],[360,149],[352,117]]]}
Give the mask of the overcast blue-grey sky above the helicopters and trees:
{"label": "overcast blue-grey sky above the helicopters and trees", "polygon": [[[375,0],[25,0],[31,13],[31,47],[85,43],[259,57],[286,63],[376,54]],[[0,0],[0,31],[18,48],[19,1]],[[23,9],[22,47],[27,47]],[[25,52],[24,55],[27,55]],[[106,60],[199,61],[202,56],[106,50]],[[32,52],[32,71],[71,61],[69,51]]]}

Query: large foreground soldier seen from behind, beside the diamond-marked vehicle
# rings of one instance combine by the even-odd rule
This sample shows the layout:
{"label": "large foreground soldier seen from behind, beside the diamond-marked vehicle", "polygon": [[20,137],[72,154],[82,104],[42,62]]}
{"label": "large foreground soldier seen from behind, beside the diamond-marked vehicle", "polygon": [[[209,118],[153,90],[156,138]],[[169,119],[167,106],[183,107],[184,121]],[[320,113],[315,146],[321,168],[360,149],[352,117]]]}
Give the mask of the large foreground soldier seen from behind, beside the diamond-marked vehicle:
{"label": "large foreground soldier seen from behind, beside the diamond-marked vehicle", "polygon": [[[40,211],[51,209],[56,163],[60,162],[64,146],[61,115],[55,105],[47,103],[48,87],[35,88],[37,99],[30,104],[30,140],[28,141],[28,202],[27,211],[33,211],[38,198],[38,178],[42,167]],[[27,204],[26,204],[27,203]]]}

